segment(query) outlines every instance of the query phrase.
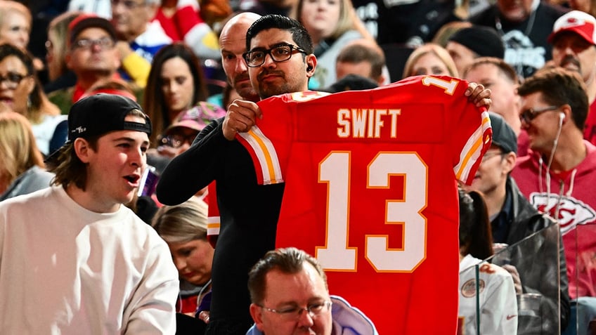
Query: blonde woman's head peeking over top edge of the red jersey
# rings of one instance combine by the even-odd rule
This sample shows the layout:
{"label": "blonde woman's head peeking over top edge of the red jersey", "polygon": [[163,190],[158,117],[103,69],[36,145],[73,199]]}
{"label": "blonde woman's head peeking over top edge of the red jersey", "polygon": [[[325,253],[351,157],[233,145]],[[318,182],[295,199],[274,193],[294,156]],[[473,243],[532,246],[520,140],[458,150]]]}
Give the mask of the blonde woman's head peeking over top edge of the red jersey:
{"label": "blonde woman's head peeking over top edge of the red jersey", "polygon": [[459,77],[453,58],[439,44],[427,43],[410,53],[403,67],[403,78],[421,74]]}

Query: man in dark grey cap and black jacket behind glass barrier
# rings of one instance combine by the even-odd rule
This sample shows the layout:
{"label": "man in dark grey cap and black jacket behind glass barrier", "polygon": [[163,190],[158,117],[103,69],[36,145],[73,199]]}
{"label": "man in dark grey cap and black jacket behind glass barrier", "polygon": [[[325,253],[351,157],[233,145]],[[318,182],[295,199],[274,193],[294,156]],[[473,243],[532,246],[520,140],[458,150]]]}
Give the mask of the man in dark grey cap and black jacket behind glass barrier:
{"label": "man in dark grey cap and black jacket behind glass barrier", "polygon": [[[493,242],[512,246],[539,230],[556,225],[556,222],[547,214],[541,214],[534,209],[519,191],[510,176],[517,160],[517,137],[499,114],[491,112],[489,117],[493,128],[493,143],[482,158],[472,185],[467,189],[482,192],[484,195],[491,219]],[[531,241],[514,247],[510,251],[510,265],[498,264],[511,272],[517,294],[542,295],[541,324],[532,324],[531,319],[520,315],[517,322],[520,332],[533,329],[533,333],[557,334],[559,320],[562,329],[569,320],[569,294],[563,244],[559,234],[552,234],[552,231],[558,231],[558,226],[554,230],[550,229]],[[532,251],[524,252],[524,248],[529,246]],[[536,258],[538,255],[540,261]],[[560,263],[557,262],[557,257]]]}

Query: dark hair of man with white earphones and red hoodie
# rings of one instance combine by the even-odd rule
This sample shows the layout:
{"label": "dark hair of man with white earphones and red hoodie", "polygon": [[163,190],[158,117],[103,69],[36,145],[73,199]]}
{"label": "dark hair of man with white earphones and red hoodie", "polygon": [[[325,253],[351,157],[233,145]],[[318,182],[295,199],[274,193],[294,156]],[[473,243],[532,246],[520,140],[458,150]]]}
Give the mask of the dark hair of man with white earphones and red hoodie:
{"label": "dark hair of man with white earphones and red hoodie", "polygon": [[583,130],[590,103],[583,79],[577,72],[562,67],[538,70],[517,88],[520,96],[529,96],[536,92],[542,93],[542,100],[548,105],[571,106],[571,119],[578,129]]}

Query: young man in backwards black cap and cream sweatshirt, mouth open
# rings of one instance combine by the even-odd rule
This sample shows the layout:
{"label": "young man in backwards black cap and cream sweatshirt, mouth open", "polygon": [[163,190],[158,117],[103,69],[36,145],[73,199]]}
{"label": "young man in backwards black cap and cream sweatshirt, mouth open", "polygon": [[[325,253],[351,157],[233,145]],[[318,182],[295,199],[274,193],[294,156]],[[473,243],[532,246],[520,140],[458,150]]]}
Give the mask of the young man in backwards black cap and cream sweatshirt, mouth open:
{"label": "young man in backwards black cap and cream sweatshirt, mouth open", "polygon": [[167,244],[123,204],[145,166],[149,118],[98,94],[48,157],[53,186],[0,203],[2,334],[174,334],[178,272]]}

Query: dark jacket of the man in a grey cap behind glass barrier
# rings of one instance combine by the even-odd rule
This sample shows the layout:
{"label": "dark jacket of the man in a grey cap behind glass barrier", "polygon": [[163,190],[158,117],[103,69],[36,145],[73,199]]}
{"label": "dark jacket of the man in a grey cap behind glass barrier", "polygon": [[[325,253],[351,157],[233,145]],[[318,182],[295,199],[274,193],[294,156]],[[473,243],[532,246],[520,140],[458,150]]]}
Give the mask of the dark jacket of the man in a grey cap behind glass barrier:
{"label": "dark jacket of the man in a grey cap behind glass barrier", "polygon": [[510,264],[519,272],[524,293],[542,294],[540,319],[520,315],[518,334],[557,334],[558,298],[561,329],[565,329],[569,322],[570,313],[569,282],[559,225],[555,219],[540,214],[532,206],[511,176],[507,178],[506,188],[507,197],[512,200],[505,242],[510,245]]}

